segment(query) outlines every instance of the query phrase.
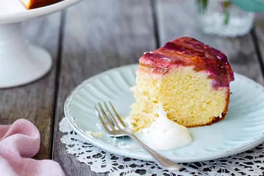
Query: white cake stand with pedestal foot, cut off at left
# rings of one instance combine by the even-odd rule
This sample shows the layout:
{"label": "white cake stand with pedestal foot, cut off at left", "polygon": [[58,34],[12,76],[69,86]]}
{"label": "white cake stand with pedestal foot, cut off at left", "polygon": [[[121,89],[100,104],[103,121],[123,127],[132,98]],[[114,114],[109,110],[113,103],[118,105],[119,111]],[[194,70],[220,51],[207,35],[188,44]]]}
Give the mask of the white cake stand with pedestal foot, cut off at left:
{"label": "white cake stand with pedestal foot, cut off at left", "polygon": [[63,10],[81,0],[64,0],[43,8],[26,10],[19,0],[0,0],[0,88],[30,83],[51,69],[52,58],[24,38],[21,22]]}

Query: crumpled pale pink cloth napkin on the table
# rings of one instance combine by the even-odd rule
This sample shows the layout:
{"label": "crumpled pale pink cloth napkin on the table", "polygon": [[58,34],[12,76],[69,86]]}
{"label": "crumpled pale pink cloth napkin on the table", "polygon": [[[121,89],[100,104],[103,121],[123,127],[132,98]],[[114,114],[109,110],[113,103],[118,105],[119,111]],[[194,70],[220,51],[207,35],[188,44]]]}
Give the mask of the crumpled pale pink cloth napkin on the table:
{"label": "crumpled pale pink cloth napkin on the table", "polygon": [[28,120],[0,125],[0,176],[61,176],[60,165],[31,159],[40,150],[40,132]]}

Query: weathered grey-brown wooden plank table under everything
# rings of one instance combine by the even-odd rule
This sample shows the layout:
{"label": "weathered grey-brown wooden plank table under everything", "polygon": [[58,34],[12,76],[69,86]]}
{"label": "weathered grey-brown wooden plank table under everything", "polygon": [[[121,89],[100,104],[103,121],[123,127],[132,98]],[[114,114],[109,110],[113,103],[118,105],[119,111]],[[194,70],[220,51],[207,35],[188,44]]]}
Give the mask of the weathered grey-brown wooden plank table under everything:
{"label": "weathered grey-brown wooden plank table under everything", "polygon": [[58,161],[66,175],[105,175],[92,173],[66,154],[58,129],[68,93],[94,74],[138,63],[143,52],[187,35],[222,50],[235,72],[264,83],[263,30],[256,27],[234,39],[205,35],[195,24],[195,4],[190,0],[85,0],[62,13],[24,22],[24,32],[49,50],[53,68],[34,83],[0,90],[0,122],[33,122],[41,134],[35,159]]}

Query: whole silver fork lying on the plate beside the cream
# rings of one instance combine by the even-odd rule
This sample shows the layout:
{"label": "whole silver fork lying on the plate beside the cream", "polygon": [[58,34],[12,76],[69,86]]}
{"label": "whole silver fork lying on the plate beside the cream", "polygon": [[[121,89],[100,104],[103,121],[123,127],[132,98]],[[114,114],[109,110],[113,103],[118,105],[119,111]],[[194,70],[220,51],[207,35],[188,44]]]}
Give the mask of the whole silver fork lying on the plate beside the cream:
{"label": "whole silver fork lying on the plate beside the cream", "polygon": [[149,148],[147,145],[142,143],[131,132],[131,130],[128,127],[126,127],[123,120],[119,117],[117,111],[115,111],[113,104],[111,102],[109,102],[109,104],[110,104],[110,109],[112,109],[112,111],[110,111],[106,102],[104,102],[104,106],[107,111],[107,114],[100,103],[98,104],[100,111],[97,108],[97,105],[94,105],[94,108],[96,110],[95,112],[97,113],[97,117],[99,118],[101,122],[101,126],[103,127],[106,134],[108,134],[108,136],[112,136],[112,137],[129,136],[136,143],[138,143],[145,151],[147,151],[151,155],[151,157],[154,159],[154,161],[156,161],[156,163],[158,163],[158,165],[161,168],[164,168],[167,170],[182,170],[183,169],[183,167],[180,166],[179,164],[176,164],[170,159],[163,157],[162,155],[158,154],[157,152]]}

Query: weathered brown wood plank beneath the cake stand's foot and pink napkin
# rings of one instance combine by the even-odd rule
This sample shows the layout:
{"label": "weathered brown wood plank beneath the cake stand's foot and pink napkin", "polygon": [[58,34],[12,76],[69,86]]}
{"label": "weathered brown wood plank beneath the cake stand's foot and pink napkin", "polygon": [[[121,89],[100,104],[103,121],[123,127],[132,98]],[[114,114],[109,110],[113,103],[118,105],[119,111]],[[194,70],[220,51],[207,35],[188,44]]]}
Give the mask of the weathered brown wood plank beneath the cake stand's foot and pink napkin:
{"label": "weathered brown wood plank beneath the cake stand's foot and pink napkin", "polygon": [[55,72],[60,13],[33,19],[23,24],[28,40],[46,48],[54,65],[44,78],[18,88],[0,90],[0,122],[10,124],[19,118],[33,122],[40,130],[41,147],[36,159],[51,156],[51,136],[55,93]]}

